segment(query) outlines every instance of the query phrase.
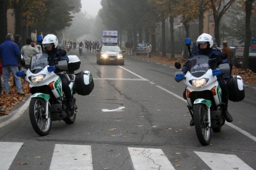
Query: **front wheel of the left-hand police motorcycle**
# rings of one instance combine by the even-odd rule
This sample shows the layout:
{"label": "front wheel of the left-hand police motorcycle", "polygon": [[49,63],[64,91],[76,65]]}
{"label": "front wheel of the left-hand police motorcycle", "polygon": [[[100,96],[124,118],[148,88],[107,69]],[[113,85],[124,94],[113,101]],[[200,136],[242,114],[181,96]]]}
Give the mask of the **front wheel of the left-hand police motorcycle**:
{"label": "front wheel of the left-hand police motorcycle", "polygon": [[43,98],[31,98],[29,104],[30,122],[36,134],[41,136],[48,135],[52,127],[50,114],[49,118],[45,118],[45,111],[46,105]]}

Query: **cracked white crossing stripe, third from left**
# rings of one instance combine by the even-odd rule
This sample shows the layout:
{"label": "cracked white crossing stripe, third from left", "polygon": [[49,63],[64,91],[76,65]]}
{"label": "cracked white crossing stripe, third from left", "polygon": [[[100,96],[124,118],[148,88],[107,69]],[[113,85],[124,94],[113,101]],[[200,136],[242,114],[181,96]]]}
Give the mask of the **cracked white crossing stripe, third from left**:
{"label": "cracked white crossing stripe, third from left", "polygon": [[128,148],[135,170],[173,170],[171,162],[160,149]]}

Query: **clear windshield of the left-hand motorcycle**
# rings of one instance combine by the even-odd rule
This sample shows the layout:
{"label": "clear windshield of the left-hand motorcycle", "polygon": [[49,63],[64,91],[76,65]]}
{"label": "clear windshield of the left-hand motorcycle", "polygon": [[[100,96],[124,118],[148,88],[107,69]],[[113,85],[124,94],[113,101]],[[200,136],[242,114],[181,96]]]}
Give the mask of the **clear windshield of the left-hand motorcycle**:
{"label": "clear windshield of the left-hand motorcycle", "polygon": [[29,70],[31,73],[39,73],[47,65],[48,65],[48,54],[35,54],[31,57]]}

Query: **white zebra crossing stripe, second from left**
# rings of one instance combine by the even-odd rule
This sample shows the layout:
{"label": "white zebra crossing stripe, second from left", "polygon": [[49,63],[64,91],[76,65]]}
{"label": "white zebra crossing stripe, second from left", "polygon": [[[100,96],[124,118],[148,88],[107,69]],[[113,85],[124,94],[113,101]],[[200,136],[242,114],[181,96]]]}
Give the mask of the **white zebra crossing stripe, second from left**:
{"label": "white zebra crossing stripe, second from left", "polygon": [[92,163],[91,146],[55,144],[50,169],[93,170]]}

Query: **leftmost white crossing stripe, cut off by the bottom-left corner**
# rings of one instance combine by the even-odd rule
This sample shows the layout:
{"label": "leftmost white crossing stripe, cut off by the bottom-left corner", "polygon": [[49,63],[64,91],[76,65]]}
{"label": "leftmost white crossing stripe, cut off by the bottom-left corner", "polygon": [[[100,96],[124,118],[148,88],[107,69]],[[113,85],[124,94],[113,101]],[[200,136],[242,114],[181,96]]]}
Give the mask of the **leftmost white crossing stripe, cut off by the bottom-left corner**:
{"label": "leftmost white crossing stripe, cut off by the bottom-left corner", "polygon": [[0,166],[2,170],[8,170],[20,150],[23,143],[5,143],[0,144]]}

